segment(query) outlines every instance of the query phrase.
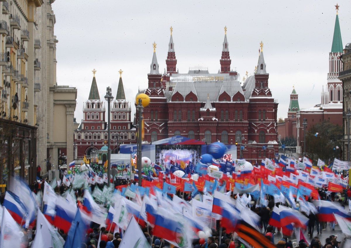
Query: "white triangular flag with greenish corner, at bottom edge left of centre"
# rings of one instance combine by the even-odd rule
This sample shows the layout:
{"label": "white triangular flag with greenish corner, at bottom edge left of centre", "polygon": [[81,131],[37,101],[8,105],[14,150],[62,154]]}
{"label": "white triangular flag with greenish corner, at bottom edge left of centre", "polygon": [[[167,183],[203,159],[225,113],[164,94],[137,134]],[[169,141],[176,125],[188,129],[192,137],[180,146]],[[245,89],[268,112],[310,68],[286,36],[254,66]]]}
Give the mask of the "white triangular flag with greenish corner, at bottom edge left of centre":
{"label": "white triangular flag with greenish corner, at bottom edge left of centre", "polygon": [[150,247],[137,221],[132,217],[123,235],[119,248]]}

